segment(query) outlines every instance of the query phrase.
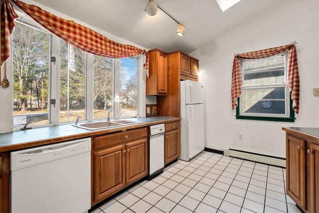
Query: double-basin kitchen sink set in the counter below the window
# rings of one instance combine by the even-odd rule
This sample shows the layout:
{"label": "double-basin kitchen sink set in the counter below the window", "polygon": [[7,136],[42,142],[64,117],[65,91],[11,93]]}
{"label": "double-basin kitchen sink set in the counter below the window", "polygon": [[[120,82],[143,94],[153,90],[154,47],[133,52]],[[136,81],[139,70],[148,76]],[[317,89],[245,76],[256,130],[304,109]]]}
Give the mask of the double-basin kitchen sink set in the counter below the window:
{"label": "double-basin kitchen sink set in the counter below the window", "polygon": [[112,127],[128,126],[132,124],[143,123],[142,121],[115,120],[115,121],[97,121],[83,124],[72,124],[72,126],[87,130],[108,129]]}

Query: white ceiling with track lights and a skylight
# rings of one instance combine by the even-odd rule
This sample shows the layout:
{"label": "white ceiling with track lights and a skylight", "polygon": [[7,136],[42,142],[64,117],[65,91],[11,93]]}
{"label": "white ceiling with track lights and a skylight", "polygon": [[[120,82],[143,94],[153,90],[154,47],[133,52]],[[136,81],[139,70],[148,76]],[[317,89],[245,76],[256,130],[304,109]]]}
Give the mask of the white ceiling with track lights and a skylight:
{"label": "white ceiling with track lights and a skylight", "polygon": [[281,0],[241,0],[224,12],[216,0],[154,0],[185,26],[184,36],[176,34],[178,24],[160,9],[149,16],[144,11],[148,0],[34,1],[145,48],[189,54]]}

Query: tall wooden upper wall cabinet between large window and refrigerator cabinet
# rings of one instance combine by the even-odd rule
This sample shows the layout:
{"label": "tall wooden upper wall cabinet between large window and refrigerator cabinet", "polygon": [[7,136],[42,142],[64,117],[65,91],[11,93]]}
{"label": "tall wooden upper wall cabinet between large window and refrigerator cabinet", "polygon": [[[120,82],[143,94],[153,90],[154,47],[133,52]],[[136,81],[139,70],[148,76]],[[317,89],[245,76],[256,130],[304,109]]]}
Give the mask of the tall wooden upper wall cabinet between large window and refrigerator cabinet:
{"label": "tall wooden upper wall cabinet between large window and refrigerator cabinet", "polygon": [[167,95],[167,54],[159,49],[149,51],[150,76],[146,79],[146,95]]}

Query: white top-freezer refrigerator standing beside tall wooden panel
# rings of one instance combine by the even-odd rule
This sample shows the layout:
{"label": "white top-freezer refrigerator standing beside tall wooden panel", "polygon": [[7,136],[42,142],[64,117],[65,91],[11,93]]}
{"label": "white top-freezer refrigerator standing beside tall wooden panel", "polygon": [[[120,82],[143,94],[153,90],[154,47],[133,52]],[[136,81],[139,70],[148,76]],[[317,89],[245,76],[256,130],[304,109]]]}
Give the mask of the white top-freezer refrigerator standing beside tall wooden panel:
{"label": "white top-freezer refrigerator standing beside tall wooden panel", "polygon": [[180,81],[180,160],[188,161],[204,150],[204,87]]}

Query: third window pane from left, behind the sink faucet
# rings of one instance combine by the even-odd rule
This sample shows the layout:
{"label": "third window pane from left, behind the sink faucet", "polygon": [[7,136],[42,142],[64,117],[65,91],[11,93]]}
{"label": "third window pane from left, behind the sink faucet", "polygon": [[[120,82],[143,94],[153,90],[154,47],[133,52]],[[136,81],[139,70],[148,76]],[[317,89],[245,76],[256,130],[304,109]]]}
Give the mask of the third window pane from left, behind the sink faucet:
{"label": "third window pane from left, behind the sink faucet", "polygon": [[[93,119],[105,119],[106,111],[113,108],[113,59],[94,56],[94,113]],[[113,118],[113,110],[110,118]]]}

